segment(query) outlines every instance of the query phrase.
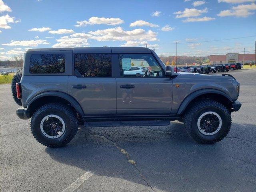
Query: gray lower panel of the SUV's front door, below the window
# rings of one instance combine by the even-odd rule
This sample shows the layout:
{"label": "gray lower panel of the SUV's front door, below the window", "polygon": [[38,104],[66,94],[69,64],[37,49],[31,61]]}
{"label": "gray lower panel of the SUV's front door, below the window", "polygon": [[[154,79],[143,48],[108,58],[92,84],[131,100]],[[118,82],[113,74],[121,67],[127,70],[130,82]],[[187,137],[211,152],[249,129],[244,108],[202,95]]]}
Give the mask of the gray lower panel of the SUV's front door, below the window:
{"label": "gray lower panel of the SUV's front door, below the window", "polygon": [[[117,114],[170,114],[172,109],[172,79],[116,78]],[[134,85],[132,89],[120,88]]]}

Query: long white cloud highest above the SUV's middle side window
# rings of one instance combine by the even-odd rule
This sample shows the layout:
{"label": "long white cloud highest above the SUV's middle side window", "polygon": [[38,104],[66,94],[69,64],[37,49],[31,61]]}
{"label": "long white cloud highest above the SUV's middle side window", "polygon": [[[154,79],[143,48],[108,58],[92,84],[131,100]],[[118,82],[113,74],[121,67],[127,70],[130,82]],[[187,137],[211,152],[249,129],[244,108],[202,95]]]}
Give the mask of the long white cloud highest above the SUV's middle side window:
{"label": "long white cloud highest above the SUV's middle side window", "polygon": [[96,25],[96,24],[106,24],[106,25],[119,25],[124,23],[124,21],[120,18],[105,18],[105,17],[91,17],[88,21],[77,21],[76,27],[82,27],[86,25]]}

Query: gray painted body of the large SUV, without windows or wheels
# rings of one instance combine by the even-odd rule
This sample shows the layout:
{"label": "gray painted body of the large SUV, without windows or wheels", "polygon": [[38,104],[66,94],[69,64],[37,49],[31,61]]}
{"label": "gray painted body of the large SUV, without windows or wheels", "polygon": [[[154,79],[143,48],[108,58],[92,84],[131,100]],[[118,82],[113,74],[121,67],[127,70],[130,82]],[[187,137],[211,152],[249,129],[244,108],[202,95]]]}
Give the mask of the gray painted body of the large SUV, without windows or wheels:
{"label": "gray painted body of the large SUV, without windows or wheels", "polygon": [[[31,54],[64,53],[66,64],[64,74],[30,74]],[[74,54],[112,54],[112,77],[74,76]],[[21,79],[22,106],[27,108],[34,98],[54,92],[55,96],[67,99],[80,112],[80,116],[128,116],[128,115],[180,115],[187,103],[204,93],[218,93],[234,102],[238,96],[238,82],[230,76],[209,76],[176,73],[172,77],[132,78],[120,77],[117,54],[151,53],[162,69],[160,58],[147,48],[49,48],[31,49],[25,54],[24,72]],[[176,88],[176,84],[179,85]],[[74,89],[83,85],[86,88]],[[134,88],[120,88],[134,85]],[[47,92],[47,93],[46,93]],[[57,94],[61,93],[61,94]],[[44,94],[45,93],[45,94]]]}

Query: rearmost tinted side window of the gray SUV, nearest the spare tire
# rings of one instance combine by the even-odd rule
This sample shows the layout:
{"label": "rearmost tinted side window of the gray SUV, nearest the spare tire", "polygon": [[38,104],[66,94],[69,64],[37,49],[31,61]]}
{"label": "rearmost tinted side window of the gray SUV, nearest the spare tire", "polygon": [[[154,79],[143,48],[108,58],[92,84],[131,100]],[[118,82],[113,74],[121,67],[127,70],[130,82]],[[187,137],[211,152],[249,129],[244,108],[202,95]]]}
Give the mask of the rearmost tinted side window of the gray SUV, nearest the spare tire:
{"label": "rearmost tinted side window of the gray SUV, nearest the spare tire", "polygon": [[29,72],[34,74],[64,73],[65,54],[32,54]]}

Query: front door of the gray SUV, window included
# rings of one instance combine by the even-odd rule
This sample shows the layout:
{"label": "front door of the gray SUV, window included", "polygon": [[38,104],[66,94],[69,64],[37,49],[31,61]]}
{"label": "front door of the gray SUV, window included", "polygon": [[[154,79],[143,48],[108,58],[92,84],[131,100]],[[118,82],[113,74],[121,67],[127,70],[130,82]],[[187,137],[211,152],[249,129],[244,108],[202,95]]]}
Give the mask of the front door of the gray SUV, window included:
{"label": "front door of the gray SUV, window included", "polygon": [[[117,115],[170,114],[172,79],[152,54],[119,54],[120,78],[116,78]],[[139,68],[134,74],[131,68]]]}

